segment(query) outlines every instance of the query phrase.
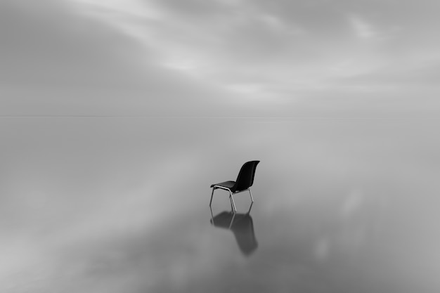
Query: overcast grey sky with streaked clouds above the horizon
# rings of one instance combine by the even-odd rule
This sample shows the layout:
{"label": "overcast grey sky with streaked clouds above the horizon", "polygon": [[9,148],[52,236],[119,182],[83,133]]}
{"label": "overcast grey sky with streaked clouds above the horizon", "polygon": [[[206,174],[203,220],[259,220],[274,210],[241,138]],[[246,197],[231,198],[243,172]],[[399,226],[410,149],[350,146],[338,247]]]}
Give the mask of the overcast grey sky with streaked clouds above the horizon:
{"label": "overcast grey sky with streaked clouds above the horizon", "polygon": [[0,115],[434,117],[439,6],[2,0]]}

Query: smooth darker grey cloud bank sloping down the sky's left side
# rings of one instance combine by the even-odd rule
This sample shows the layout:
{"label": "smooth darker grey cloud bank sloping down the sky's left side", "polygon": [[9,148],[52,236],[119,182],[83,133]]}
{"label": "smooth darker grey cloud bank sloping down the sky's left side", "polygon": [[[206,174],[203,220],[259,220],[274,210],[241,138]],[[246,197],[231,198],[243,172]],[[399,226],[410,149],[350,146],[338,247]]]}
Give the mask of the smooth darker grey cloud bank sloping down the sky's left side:
{"label": "smooth darker grey cloud bank sloping down the sky's left side", "polygon": [[194,115],[221,100],[75,7],[0,5],[1,115]]}

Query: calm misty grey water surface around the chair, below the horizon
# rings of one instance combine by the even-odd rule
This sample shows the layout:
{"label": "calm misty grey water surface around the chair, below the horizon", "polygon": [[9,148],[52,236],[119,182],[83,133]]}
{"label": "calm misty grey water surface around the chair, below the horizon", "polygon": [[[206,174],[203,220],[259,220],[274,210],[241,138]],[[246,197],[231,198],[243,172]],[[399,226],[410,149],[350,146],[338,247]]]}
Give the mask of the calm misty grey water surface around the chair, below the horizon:
{"label": "calm misty grey water surface around the chair, below the horizon", "polygon": [[1,118],[0,291],[439,292],[439,126]]}

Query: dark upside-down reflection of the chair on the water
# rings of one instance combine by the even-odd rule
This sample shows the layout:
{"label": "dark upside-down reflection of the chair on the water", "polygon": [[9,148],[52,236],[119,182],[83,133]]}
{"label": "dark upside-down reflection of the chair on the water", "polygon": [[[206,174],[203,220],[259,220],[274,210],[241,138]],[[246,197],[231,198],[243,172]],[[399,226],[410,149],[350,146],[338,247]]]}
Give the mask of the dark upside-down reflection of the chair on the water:
{"label": "dark upside-down reflection of the chair on the water", "polygon": [[[252,204],[250,209],[252,208]],[[254,233],[254,222],[250,216],[250,209],[246,214],[238,214],[233,211],[222,211],[216,216],[212,216],[211,223],[219,228],[226,228],[234,233],[238,247],[243,254],[249,256],[258,247]]]}

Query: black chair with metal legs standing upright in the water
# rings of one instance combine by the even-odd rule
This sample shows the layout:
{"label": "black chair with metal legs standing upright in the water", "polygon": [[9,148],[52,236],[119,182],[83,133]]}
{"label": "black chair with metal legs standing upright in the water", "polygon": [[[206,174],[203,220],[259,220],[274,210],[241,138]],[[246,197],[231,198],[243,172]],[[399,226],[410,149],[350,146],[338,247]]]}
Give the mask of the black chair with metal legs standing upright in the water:
{"label": "black chair with metal legs standing upright in the water", "polygon": [[212,184],[212,194],[211,194],[211,201],[209,202],[209,207],[211,207],[212,204],[212,197],[214,196],[214,190],[217,188],[228,190],[229,191],[229,200],[231,201],[231,207],[233,208],[233,211],[237,211],[235,208],[235,202],[233,199],[233,194],[235,193],[241,193],[242,191],[249,190],[250,193],[250,199],[252,202],[254,202],[254,198],[252,197],[252,193],[250,192],[250,187],[254,183],[254,176],[255,176],[255,169],[257,169],[257,164],[260,161],[250,161],[246,162],[242,165],[240,172],[237,176],[237,181],[225,181],[221,183]]}

